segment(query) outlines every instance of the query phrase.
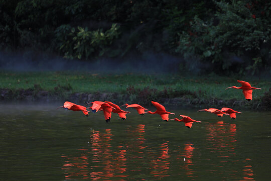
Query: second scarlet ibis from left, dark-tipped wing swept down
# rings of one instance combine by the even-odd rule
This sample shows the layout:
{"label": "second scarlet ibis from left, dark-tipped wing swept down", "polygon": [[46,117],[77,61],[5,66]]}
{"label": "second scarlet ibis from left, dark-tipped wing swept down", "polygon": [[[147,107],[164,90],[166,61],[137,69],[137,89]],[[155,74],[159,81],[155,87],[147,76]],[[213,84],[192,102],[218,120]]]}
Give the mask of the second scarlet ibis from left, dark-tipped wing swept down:
{"label": "second scarlet ibis from left, dark-tipped wing swept down", "polygon": [[104,119],[105,119],[106,123],[108,123],[110,121],[112,109],[115,109],[114,107],[110,106],[108,103],[104,103],[101,101],[94,101],[94,102],[91,102],[88,104],[92,104],[91,110],[93,113],[96,113],[97,110],[99,111],[100,108],[102,108]]}

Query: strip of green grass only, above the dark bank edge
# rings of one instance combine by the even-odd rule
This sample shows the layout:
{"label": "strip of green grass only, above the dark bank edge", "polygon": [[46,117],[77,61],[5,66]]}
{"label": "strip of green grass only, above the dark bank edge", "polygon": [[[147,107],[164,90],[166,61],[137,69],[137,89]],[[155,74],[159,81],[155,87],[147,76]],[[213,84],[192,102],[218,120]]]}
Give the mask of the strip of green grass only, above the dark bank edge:
{"label": "strip of green grass only, above the dark bank edge", "polygon": [[[237,77],[181,76],[178,74],[91,74],[87,72],[0,72],[0,88],[12,90],[34,88],[34,85],[49,92],[57,86],[72,87],[72,93],[120,93],[126,94],[128,87],[144,89],[146,87],[164,91],[171,89],[175,93],[190,92],[201,99],[243,100],[241,90],[227,89],[236,85]],[[253,98],[262,96],[271,87],[270,79],[258,77],[239,77],[249,81],[252,86],[261,90],[253,91]],[[172,94],[172,93],[169,93]],[[178,97],[178,94],[175,94]]]}

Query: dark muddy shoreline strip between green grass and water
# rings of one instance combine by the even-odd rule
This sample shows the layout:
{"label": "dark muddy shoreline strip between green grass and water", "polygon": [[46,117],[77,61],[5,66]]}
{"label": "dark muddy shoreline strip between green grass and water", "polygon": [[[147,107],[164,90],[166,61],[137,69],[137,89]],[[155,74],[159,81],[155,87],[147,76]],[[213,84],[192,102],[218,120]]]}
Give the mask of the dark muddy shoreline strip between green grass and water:
{"label": "dark muddy shoreline strip between green grass and water", "polygon": [[248,102],[244,100],[220,100],[217,98],[203,99],[197,96],[191,97],[191,95],[182,95],[177,97],[171,97],[164,94],[161,97],[152,97],[149,95],[128,95],[119,93],[71,93],[71,92],[49,92],[40,89],[18,89],[12,90],[8,88],[0,88],[0,100],[1,102],[27,102],[27,103],[56,103],[56,102],[74,102],[76,104],[85,105],[86,103],[93,101],[110,101],[118,105],[125,103],[128,104],[140,104],[143,106],[151,105],[151,101],[157,101],[165,106],[178,106],[186,108],[217,108],[229,107],[233,109],[243,110],[261,110],[271,111],[271,88],[268,92],[265,92],[263,96],[252,99]]}

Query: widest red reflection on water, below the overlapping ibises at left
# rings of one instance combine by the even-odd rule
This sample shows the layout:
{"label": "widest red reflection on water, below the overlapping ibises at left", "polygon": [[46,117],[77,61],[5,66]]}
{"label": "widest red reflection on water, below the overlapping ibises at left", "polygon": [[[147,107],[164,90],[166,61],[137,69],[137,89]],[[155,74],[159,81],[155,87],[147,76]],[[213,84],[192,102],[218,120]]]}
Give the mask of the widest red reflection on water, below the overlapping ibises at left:
{"label": "widest red reflection on water, below the overlapping ibises at left", "polygon": [[[62,169],[66,179],[109,179],[126,177],[126,150],[112,151],[111,129],[104,133],[91,130],[89,148],[80,148],[81,156],[62,156],[66,159]],[[118,179],[122,180],[122,179]]]}

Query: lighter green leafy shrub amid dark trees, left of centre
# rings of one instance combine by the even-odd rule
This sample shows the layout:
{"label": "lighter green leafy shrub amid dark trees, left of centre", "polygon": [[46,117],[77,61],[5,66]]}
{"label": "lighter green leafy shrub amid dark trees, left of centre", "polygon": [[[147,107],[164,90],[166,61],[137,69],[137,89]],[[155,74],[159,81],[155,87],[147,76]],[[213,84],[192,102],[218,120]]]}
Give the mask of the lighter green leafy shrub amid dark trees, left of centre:
{"label": "lighter green leafy shrub amid dark trees, left of centre", "polygon": [[[66,31],[70,29],[68,32]],[[56,40],[61,52],[65,52],[66,58],[90,59],[90,56],[102,56],[108,51],[108,47],[120,34],[119,26],[112,24],[105,32],[102,29],[88,31],[88,28],[77,27],[77,30],[69,25],[56,29]],[[65,33],[61,33],[61,32]]]}

